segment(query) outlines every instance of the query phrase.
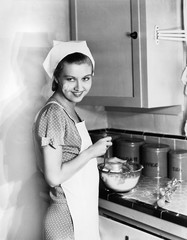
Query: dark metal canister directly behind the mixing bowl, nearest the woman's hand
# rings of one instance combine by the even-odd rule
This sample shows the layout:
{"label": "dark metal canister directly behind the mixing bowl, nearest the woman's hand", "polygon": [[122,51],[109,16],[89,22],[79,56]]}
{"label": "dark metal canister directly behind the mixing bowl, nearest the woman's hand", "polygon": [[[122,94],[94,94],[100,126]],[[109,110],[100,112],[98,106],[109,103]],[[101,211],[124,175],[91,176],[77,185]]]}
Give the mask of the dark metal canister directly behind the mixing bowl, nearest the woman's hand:
{"label": "dark metal canister directly behind the mixing bowl, nearest the woman's hand", "polygon": [[140,138],[118,138],[114,141],[114,156],[130,162],[140,163],[140,146],[144,143]]}

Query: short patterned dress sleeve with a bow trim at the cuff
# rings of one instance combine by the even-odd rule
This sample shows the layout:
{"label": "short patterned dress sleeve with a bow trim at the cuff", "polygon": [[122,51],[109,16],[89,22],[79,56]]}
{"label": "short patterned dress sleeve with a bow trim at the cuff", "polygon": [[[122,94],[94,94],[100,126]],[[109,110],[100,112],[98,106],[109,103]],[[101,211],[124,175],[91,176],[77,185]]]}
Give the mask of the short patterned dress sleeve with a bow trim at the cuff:
{"label": "short patterned dress sleeve with a bow trim at the cuff", "polygon": [[38,135],[41,146],[50,145],[56,148],[64,145],[65,117],[64,111],[58,105],[50,105],[39,118]]}

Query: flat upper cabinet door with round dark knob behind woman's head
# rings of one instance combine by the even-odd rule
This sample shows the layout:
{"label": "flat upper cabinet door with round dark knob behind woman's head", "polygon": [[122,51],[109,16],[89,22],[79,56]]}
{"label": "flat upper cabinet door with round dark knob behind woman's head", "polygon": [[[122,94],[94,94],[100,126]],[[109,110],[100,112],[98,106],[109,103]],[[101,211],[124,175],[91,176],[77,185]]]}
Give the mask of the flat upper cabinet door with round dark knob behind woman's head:
{"label": "flat upper cabinet door with round dark knob behind woman's head", "polygon": [[[138,1],[75,2],[72,38],[86,40],[96,61],[93,86],[85,102],[140,106]],[[133,32],[135,39],[130,36]]]}

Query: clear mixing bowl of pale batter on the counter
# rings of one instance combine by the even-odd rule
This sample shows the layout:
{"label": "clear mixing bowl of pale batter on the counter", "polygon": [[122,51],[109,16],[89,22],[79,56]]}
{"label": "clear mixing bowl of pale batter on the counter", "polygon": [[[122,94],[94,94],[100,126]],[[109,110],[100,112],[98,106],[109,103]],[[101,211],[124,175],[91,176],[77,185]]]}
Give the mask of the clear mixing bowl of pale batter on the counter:
{"label": "clear mixing bowl of pale batter on the counter", "polygon": [[[113,163],[101,163],[98,165],[100,178],[106,188],[115,192],[128,192],[138,183],[143,166],[139,163],[120,163],[121,168],[113,167]],[[117,171],[115,170],[117,169]]]}

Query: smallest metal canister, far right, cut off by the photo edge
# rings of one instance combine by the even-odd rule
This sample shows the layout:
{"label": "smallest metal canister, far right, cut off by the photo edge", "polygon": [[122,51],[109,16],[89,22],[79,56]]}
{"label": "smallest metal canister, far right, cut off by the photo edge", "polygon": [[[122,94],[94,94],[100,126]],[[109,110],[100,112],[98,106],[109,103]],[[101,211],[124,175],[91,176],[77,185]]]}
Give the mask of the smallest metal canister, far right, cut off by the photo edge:
{"label": "smallest metal canister, far right, cut off by the photo edge", "polygon": [[187,180],[187,150],[169,151],[169,178]]}

